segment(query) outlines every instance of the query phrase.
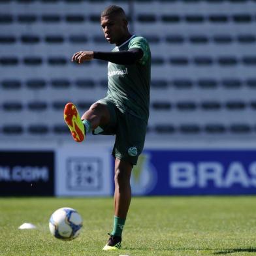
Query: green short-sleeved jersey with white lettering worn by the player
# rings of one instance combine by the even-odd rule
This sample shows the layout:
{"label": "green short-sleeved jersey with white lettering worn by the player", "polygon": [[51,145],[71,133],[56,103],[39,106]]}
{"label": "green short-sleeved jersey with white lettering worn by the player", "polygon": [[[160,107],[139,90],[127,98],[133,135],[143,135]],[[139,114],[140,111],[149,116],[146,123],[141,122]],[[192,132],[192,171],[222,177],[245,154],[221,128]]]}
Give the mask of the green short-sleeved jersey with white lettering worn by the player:
{"label": "green short-sleeved jersey with white lettering worn by the player", "polygon": [[131,48],[140,48],[143,56],[133,65],[108,62],[106,98],[116,104],[121,112],[129,112],[148,123],[151,53],[147,40],[133,35],[120,46],[116,46],[112,52]]}

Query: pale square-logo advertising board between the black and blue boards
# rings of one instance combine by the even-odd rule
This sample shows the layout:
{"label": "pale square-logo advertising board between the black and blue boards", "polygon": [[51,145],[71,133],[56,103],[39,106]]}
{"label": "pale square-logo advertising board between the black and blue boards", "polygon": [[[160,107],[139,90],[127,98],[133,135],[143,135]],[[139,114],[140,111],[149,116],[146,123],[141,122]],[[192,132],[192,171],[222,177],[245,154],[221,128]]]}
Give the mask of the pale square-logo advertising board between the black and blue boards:
{"label": "pale square-logo advertising board between the black and blue boards", "polygon": [[113,174],[109,148],[62,146],[57,150],[57,196],[108,196]]}

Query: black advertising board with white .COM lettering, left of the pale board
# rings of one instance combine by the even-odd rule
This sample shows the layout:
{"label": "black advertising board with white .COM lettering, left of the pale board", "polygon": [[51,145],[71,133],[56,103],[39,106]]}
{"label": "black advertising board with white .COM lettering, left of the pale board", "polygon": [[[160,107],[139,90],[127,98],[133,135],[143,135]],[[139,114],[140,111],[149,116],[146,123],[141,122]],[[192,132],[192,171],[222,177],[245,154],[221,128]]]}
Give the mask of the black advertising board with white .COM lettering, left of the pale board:
{"label": "black advertising board with white .COM lettering, left of the pale board", "polygon": [[54,195],[54,151],[0,151],[0,196]]}

